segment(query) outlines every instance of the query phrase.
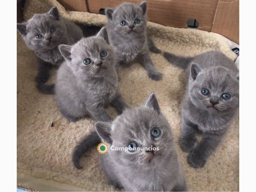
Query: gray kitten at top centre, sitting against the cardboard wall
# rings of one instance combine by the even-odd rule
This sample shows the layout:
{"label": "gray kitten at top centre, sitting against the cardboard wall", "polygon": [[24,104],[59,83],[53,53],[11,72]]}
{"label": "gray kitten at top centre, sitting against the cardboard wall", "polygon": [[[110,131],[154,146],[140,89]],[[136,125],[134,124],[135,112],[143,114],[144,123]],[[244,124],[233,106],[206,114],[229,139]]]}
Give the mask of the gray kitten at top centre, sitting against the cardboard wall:
{"label": "gray kitten at top centre, sitting against the cardboard wall", "polygon": [[153,80],[160,80],[162,74],[153,66],[149,55],[148,46],[153,52],[161,52],[153,41],[147,38],[147,3],[140,5],[123,3],[116,9],[107,8],[105,14],[108,18],[106,29],[110,45],[116,54],[116,68],[118,71],[121,63],[129,63],[139,58],[145,66],[148,77]]}

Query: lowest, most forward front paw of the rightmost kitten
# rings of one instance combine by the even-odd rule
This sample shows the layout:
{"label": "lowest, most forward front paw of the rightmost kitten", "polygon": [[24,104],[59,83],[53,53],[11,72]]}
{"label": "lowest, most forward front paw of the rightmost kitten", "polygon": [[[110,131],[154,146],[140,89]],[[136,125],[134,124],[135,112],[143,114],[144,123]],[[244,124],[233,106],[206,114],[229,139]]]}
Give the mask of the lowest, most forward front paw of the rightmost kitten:
{"label": "lowest, most forward front paw of the rightmost kitten", "polygon": [[194,168],[203,167],[206,163],[206,159],[202,156],[202,152],[193,150],[187,158],[188,164]]}

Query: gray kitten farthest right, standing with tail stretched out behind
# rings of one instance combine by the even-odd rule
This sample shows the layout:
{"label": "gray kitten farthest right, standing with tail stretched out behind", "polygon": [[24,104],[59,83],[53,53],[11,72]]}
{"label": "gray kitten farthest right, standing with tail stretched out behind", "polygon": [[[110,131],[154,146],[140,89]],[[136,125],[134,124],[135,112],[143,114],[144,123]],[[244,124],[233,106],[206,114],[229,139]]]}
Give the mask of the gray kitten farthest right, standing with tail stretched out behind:
{"label": "gray kitten farthest right, standing with tail stretched out behind", "polygon": [[[218,51],[183,58],[164,53],[174,65],[186,69],[187,89],[182,102],[180,147],[192,167],[203,167],[226,133],[239,108],[239,70]],[[194,148],[196,130],[202,132]]]}

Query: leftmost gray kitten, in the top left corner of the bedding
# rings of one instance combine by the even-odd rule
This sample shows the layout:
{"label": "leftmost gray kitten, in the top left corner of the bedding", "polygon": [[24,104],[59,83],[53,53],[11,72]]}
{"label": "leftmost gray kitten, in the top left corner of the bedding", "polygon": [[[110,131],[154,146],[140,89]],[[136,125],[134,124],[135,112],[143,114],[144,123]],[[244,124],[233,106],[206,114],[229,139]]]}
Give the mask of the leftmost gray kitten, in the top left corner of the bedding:
{"label": "leftmost gray kitten, in the top left corner of the bedding", "polygon": [[58,46],[72,45],[83,37],[82,30],[73,22],[59,16],[57,7],[52,7],[48,13],[35,14],[24,23],[17,23],[17,30],[27,47],[38,56],[37,88],[45,90],[43,83],[49,79],[51,65],[59,66],[64,58]]}

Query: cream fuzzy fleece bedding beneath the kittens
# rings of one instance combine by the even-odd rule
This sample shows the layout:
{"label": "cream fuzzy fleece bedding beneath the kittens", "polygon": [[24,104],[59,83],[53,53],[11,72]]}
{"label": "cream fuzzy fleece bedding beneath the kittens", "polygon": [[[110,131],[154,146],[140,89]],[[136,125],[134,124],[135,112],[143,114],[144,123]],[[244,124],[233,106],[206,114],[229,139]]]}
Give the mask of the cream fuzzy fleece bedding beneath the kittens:
{"label": "cream fuzzy fleece bedding beneath the kittens", "polygon": [[[83,24],[104,25],[104,15],[68,12],[56,0],[26,0],[25,20],[34,13],[44,13],[57,6],[60,15]],[[175,18],[174,18],[175,19]],[[219,50],[231,59],[236,55],[219,36],[196,29],[165,27],[148,22],[149,33],[162,51],[183,56],[195,56],[209,50]],[[194,169],[187,164],[187,153],[178,146],[180,135],[180,105],[185,94],[185,73],[172,66],[161,54],[151,53],[156,69],[163,73],[161,81],[147,77],[140,63],[120,67],[120,90],[132,107],[141,105],[155,91],[163,114],[175,135],[187,185],[191,191],[239,190],[239,117],[237,116],[216,152],[205,167]],[[92,118],[68,122],[60,114],[54,95],[37,91],[36,55],[28,50],[17,33],[17,183],[39,191],[116,191],[99,168],[96,147],[81,159],[82,170],[71,163],[73,147],[82,136],[94,129]],[[51,70],[55,82],[56,69]],[[107,108],[115,117],[116,111]]]}

